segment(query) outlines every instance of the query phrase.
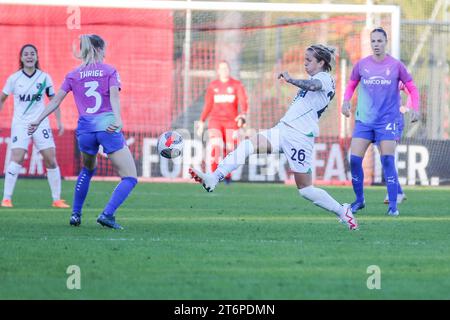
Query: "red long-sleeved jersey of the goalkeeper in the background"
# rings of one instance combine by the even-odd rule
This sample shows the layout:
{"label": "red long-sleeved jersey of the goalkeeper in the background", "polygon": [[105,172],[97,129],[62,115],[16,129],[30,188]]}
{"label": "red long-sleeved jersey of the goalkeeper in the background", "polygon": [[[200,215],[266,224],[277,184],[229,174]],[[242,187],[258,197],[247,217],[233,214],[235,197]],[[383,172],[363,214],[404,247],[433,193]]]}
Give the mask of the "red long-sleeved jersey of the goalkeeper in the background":
{"label": "red long-sleeved jersey of the goalkeeper in the background", "polygon": [[[238,106],[241,110],[239,111]],[[227,82],[214,80],[208,86],[205,106],[200,116],[214,120],[234,120],[239,114],[247,113],[247,94],[239,80],[230,78]]]}

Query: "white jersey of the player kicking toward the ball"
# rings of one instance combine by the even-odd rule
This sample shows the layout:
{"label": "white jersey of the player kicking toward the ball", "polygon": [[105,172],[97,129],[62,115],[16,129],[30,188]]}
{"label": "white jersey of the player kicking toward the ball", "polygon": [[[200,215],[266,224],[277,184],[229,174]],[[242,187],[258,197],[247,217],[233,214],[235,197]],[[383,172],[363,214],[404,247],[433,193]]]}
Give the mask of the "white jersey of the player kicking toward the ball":
{"label": "white jersey of the player kicking toward the ball", "polygon": [[317,137],[319,118],[333,99],[336,86],[327,72],[319,72],[310,77],[310,80],[313,79],[320,80],[322,89],[318,91],[300,89],[280,121],[307,136]]}

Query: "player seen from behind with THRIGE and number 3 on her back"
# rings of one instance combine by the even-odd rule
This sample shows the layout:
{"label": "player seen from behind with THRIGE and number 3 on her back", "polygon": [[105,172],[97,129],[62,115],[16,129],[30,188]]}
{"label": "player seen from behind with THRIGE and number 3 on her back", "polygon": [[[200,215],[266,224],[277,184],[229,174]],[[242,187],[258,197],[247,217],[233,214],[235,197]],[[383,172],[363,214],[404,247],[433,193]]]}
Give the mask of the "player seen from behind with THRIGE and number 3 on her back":
{"label": "player seen from behind with THRIGE and number 3 on her back", "polygon": [[70,224],[81,224],[83,203],[96,170],[99,146],[102,145],[122,180],[97,222],[105,227],[122,229],[115,220],[115,212],[136,186],[137,172],[133,156],[120,131],[119,74],[114,67],[103,63],[105,41],[98,35],[80,36],[78,57],[83,63],[66,75],[55,98],[39,118],[29,125],[29,132],[34,132],[39,123],[59,107],[69,91],[73,92],[79,113],[76,135],[84,167],[75,185]]}

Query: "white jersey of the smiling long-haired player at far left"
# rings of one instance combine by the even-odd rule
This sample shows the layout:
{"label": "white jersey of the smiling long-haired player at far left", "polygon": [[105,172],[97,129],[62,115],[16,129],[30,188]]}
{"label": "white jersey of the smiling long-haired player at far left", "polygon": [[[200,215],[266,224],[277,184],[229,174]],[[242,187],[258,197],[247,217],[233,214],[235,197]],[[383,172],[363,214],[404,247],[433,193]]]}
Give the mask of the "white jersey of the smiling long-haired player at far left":
{"label": "white jersey of the smiling long-haired player at far left", "polygon": [[39,69],[31,76],[23,70],[13,73],[6,80],[3,93],[14,95],[13,124],[36,120],[45,108],[44,94],[48,97],[55,95],[51,77]]}

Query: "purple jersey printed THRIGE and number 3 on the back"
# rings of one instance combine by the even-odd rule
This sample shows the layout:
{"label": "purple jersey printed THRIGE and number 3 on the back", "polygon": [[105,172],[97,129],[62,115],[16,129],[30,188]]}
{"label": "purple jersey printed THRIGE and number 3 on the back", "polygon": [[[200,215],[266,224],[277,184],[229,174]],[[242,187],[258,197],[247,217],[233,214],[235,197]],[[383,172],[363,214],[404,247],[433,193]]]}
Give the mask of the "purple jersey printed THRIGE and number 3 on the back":
{"label": "purple jersey printed THRIGE and number 3 on the back", "polygon": [[120,89],[119,74],[114,67],[104,63],[80,66],[66,75],[61,90],[73,92],[80,116],[78,133],[104,131],[114,122],[111,87]]}

